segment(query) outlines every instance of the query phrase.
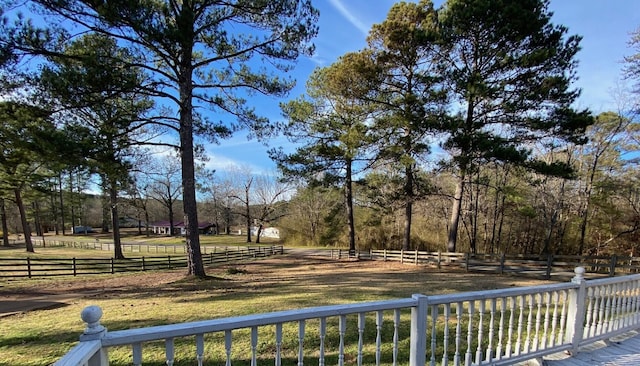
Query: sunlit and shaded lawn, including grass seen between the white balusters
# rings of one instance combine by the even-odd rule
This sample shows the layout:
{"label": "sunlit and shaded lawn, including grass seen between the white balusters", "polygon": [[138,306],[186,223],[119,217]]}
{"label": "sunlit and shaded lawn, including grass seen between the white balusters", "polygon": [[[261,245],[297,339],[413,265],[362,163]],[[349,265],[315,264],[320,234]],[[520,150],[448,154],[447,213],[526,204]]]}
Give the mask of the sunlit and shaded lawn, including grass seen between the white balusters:
{"label": "sunlit and shaded lawn, including grass seen between the white balusters", "polygon": [[[67,252],[71,254],[70,252]],[[109,280],[129,283],[119,288],[106,290],[90,298],[79,298],[70,305],[32,311],[24,314],[0,318],[0,365],[46,365],[54,362],[77,343],[83,324],[79,314],[88,305],[102,307],[102,323],[109,330],[146,327],[185,321],[196,321],[220,317],[238,316],[270,311],[295,309],[310,306],[343,304],[409,297],[412,293],[450,293],[499,287],[531,284],[531,281],[512,277],[491,276],[487,280],[482,275],[464,273],[435,273],[417,266],[387,266],[371,263],[363,268],[360,263],[326,262],[320,260],[265,260],[255,264],[236,263],[226,267],[208,268],[209,278],[193,279],[183,275],[183,270],[172,271],[165,276],[175,279],[152,287],[138,287],[136,281],[146,274],[129,276],[88,276],[84,279],[47,279],[38,281],[12,281],[0,288],[0,296],[9,293],[29,293],[51,287],[73,288],[79,283],[96,284]],[[538,281],[537,283],[542,283]],[[104,285],[107,286],[107,285]],[[113,285],[111,285],[113,286]],[[366,326],[367,357],[374,355],[375,323],[368,316]],[[391,314],[385,326],[386,343],[392,334]],[[406,359],[408,352],[408,312],[402,318],[401,355]],[[327,334],[327,364],[337,363],[337,319],[330,319]],[[357,319],[348,317],[346,338],[349,343],[347,353],[356,354]],[[317,357],[317,321],[309,321],[305,336],[308,354],[305,363],[314,364]],[[284,365],[295,365],[297,357],[297,328],[286,324],[283,342]],[[273,354],[273,328],[260,329],[258,349],[262,357]],[[248,330],[234,331],[234,365],[248,365],[250,361]],[[176,340],[176,365],[193,364],[195,349],[193,338]],[[207,335],[207,364],[222,364],[224,360],[223,335]],[[391,351],[385,345],[385,362],[390,364]],[[128,347],[109,351],[112,365],[131,363]],[[164,364],[164,345],[145,344],[144,363]],[[349,356],[352,357],[352,356]],[[354,364],[355,359],[346,360]],[[317,361],[315,361],[317,362]],[[365,364],[372,364],[371,358]],[[273,364],[261,360],[259,364]]]}

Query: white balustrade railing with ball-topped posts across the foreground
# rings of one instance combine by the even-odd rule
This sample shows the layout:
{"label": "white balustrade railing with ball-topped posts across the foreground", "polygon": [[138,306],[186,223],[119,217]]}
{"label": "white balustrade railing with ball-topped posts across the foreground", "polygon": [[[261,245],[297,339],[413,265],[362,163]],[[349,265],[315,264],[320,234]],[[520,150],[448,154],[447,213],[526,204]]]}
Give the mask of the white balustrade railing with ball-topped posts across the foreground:
{"label": "white balustrade railing with ball-topped posts across the foreground", "polygon": [[[164,341],[167,365],[202,365],[205,359],[257,365],[266,359],[279,366],[285,357],[298,366],[507,365],[559,351],[575,353],[584,344],[640,328],[640,275],[590,281],[583,275],[578,267],[568,283],[413,295],[114,332],[100,325],[100,308],[90,306],[81,315],[87,328],[80,343],[55,365],[108,365],[109,347],[122,345],[131,347],[133,364],[141,365],[143,345],[158,340]],[[179,360],[176,340],[177,347],[186,348]],[[222,359],[211,360],[205,342],[224,344]]]}

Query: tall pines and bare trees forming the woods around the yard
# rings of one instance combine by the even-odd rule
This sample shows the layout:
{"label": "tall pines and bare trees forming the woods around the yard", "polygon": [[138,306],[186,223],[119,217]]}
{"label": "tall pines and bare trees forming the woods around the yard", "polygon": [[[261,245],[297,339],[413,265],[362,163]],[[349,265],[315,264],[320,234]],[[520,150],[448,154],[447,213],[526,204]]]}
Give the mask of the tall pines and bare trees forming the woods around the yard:
{"label": "tall pines and bare trees forming the woods around the yard", "polygon": [[[580,37],[547,1],[399,2],[364,49],[282,102],[283,120],[251,96],[292,89],[283,75],[313,52],[310,1],[29,3],[59,23],[0,26],[5,245],[73,226],[119,244],[121,225],[185,222],[197,276],[199,221],[350,250],[640,251],[640,92],[576,109]],[[270,151],[278,173],[205,168],[202,144],[239,129],[289,139]]]}

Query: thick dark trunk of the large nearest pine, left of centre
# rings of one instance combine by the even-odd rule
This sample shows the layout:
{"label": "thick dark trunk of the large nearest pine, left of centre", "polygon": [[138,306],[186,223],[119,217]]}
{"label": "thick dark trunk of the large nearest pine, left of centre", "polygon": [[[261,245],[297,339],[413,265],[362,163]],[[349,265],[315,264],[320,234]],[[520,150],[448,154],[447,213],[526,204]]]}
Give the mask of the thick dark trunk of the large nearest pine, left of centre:
{"label": "thick dark trunk of the large nearest pine, left of centre", "polygon": [[179,14],[179,28],[183,32],[178,66],[180,94],[180,156],[182,162],[182,199],[184,207],[185,241],[187,246],[187,273],[206,277],[200,251],[198,233],[198,207],[196,206],[195,166],[193,154],[193,9],[183,4]]}

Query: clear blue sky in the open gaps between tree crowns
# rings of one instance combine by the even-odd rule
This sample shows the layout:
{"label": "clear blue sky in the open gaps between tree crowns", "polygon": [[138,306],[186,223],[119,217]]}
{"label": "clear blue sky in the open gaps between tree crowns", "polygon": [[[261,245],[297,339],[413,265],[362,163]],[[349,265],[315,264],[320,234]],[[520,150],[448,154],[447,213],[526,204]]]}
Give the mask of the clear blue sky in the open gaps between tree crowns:
{"label": "clear blue sky in the open gaps between tree crowns", "polygon": [[[304,93],[308,76],[314,68],[328,66],[341,55],[357,51],[366,45],[366,36],[373,24],[382,22],[396,1],[392,0],[317,0],[320,10],[319,34],[315,39],[316,54],[299,60],[292,76],[297,86],[289,99]],[[435,0],[439,7],[442,0]],[[620,83],[622,60],[633,53],[628,42],[630,33],[640,28],[640,0],[551,0],[554,24],[569,28],[569,34],[583,37],[578,54],[578,82],[582,89],[577,107],[589,108],[594,113],[616,110],[612,90]],[[260,100],[255,106],[258,113],[274,120],[280,119],[278,103],[281,100]],[[272,139],[270,146],[285,146],[283,138]],[[275,172],[275,164],[262,144],[248,141],[237,133],[220,145],[208,145],[211,160],[208,166],[223,171],[229,167],[243,167],[255,173]]]}

